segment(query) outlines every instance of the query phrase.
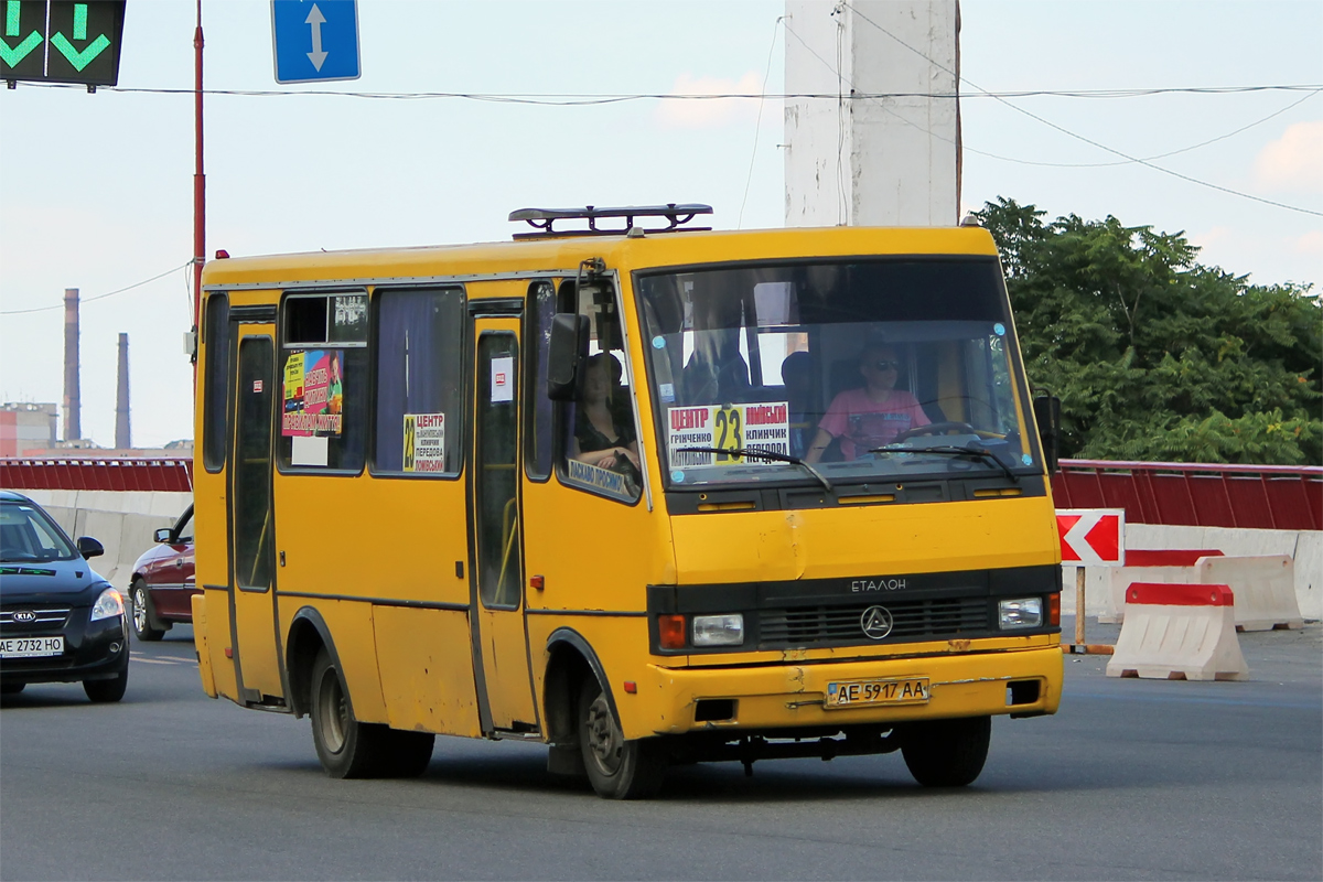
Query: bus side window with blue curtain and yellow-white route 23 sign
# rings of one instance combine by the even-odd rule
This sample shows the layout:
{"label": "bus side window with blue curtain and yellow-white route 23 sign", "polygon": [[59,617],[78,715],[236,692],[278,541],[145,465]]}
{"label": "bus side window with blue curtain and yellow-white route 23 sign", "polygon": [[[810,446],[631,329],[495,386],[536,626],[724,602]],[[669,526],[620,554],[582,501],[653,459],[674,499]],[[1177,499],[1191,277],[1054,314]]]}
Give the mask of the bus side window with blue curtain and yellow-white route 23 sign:
{"label": "bus side window with blue curtain and yellow-white route 23 sign", "polygon": [[459,475],[464,290],[377,290],[373,473]]}

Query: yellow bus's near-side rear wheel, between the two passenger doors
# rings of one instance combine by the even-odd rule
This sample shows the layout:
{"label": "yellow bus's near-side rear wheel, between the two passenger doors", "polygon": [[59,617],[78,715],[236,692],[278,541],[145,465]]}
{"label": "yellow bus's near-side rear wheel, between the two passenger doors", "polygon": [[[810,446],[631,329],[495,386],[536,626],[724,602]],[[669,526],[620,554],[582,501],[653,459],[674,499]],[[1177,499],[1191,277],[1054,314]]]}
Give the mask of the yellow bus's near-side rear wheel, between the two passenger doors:
{"label": "yellow bus's near-side rear wheel, between the two passenger doors", "polygon": [[[349,710],[349,693],[344,678],[325,647],[312,662],[310,717],[312,743],[321,768],[331,778],[374,778],[381,774],[386,756],[385,726],[360,723]],[[430,747],[430,746],[429,746]],[[429,751],[430,756],[430,751]]]}

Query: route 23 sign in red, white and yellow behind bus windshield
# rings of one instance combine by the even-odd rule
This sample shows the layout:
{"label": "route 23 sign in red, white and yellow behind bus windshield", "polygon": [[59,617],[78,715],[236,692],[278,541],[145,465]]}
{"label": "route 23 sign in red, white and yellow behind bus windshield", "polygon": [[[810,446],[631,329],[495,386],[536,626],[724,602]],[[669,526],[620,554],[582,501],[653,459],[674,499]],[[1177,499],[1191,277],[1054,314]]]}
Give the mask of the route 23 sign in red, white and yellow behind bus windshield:
{"label": "route 23 sign in red, white and yellow behind bus windshield", "polygon": [[778,460],[738,454],[692,451],[766,450],[790,454],[790,405],[783,401],[758,405],[700,405],[667,411],[665,448],[671,468],[706,465],[767,465]]}

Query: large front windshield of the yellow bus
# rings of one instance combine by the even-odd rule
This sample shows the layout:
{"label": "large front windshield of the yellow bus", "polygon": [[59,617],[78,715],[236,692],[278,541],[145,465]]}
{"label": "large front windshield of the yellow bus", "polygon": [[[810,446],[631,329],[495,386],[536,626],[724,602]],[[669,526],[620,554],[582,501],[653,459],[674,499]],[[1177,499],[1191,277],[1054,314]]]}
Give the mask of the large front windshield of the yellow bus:
{"label": "large front windshield of the yellow bus", "polygon": [[1040,471],[992,258],[730,264],[635,288],[668,488]]}

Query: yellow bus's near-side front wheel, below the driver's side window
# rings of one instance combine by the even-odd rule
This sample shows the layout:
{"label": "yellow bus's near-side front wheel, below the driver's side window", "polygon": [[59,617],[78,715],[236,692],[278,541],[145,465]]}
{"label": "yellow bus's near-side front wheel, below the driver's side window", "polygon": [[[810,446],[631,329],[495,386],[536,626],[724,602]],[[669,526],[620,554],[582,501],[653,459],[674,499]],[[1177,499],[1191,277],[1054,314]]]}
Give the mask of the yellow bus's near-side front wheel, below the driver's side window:
{"label": "yellow bus's near-side front wheel, below the driver's side window", "polygon": [[585,677],[576,709],[579,751],[593,789],[603,799],[648,799],[665,779],[665,754],[655,738],[626,741],[597,682]]}

